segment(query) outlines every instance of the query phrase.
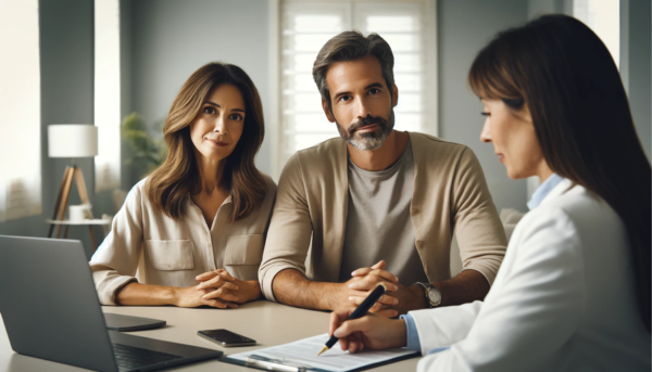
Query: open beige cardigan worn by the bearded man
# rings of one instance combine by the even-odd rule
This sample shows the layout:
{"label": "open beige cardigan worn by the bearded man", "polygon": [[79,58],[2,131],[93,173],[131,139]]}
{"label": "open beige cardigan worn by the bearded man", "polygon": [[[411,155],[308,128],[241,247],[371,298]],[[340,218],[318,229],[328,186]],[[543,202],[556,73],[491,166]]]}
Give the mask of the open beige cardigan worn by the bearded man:
{"label": "open beige cardigan worn by the bearded man", "polygon": [[[414,155],[412,226],[428,280],[451,278],[450,246],[455,229],[464,269],[479,271],[491,284],[507,241],[478,159],[465,145],[413,132],[410,139]],[[347,144],[340,138],[290,157],[278,182],[259,270],[265,297],[276,300],[272,282],[288,268],[314,281],[338,281],[348,182]]]}

